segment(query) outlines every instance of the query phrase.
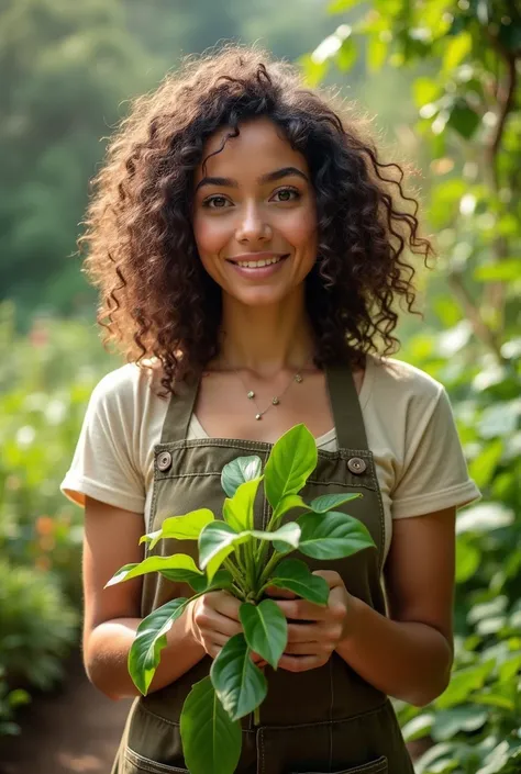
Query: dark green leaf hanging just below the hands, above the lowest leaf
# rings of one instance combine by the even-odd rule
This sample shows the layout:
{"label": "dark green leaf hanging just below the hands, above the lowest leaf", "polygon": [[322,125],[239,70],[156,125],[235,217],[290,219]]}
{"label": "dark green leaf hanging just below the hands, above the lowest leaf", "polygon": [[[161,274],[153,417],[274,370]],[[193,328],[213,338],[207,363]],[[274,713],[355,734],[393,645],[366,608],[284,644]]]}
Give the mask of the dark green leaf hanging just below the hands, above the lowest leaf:
{"label": "dark green leaf hanging just below the hands, above the lowest leaf", "polygon": [[251,658],[244,635],[234,635],[210,670],[213,687],[232,720],[253,713],[265,699],[266,677]]}

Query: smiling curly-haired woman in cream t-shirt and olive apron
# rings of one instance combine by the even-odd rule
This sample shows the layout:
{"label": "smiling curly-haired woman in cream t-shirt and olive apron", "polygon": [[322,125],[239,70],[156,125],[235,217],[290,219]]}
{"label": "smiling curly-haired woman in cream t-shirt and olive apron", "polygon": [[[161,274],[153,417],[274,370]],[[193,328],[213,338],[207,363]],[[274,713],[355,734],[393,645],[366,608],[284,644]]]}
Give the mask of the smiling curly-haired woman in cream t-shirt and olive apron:
{"label": "smiling curly-haired woman in cream t-shirt and olive apron", "polygon": [[[166,516],[220,513],[231,459],[266,459],[304,423],[319,447],[308,492],[364,493],[348,512],[377,550],[320,563],[328,609],[277,601],[288,647],[266,670],[259,726],[244,720],[242,774],[412,772],[387,697],[423,705],[447,685],[455,511],[478,496],[443,386],[377,355],[396,351],[396,302],[414,301],[406,249],[431,254],[415,202],[331,104],[257,49],[192,60],[134,103],[84,237],[106,340],[129,360],[96,386],[62,484],[86,511],[95,685],[135,696],[126,658],[140,620],[186,594],[149,575],[104,584]],[[258,527],[266,517],[259,501]],[[241,630],[237,608],[214,592],[174,624],[114,772],[187,771],[180,709]]]}

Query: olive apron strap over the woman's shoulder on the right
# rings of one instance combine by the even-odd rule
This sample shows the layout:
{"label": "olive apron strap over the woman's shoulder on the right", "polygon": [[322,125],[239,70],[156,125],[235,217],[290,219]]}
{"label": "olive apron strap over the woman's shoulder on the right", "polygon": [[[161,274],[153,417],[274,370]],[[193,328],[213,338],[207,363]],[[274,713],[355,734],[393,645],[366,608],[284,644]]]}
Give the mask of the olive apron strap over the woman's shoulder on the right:
{"label": "olive apron strap over the woman's shoulder on the right", "polygon": [[347,363],[328,366],[325,379],[339,449],[368,449],[353,371]]}

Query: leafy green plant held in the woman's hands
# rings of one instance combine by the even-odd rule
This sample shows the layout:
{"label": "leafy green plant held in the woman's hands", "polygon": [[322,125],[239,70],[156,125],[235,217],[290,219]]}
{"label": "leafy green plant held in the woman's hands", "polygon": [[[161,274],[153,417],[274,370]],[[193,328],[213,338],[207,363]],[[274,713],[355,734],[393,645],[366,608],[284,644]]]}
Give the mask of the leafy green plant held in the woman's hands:
{"label": "leafy green plant held in the woman's hands", "polygon": [[[374,546],[361,521],[334,509],[359,494],[329,494],[310,504],[299,495],[317,457],[313,436],[304,425],[297,425],[274,445],[264,474],[258,457],[233,460],[222,471],[228,495],[223,520],[200,508],[165,519],[159,530],[142,538],[151,549],[164,538],[198,540],[199,568],[187,554],[152,556],[121,568],[107,584],[158,571],[171,581],[188,582],[196,592],[190,598],[167,602],[140,624],[129,671],[142,694],[154,677],[167,631],[191,599],[225,588],[243,603],[240,617],[244,633],[226,642],[212,662],[210,675],[193,685],[182,708],[180,731],[191,774],[233,772],[241,754],[240,718],[253,711],[258,722],[267,682],[251,654],[257,653],[277,669],[287,644],[286,618],[273,599],[264,598],[268,586],[289,590],[318,605],[328,604],[325,580],[288,556],[299,550],[312,559],[340,559]],[[265,531],[254,529],[253,523],[260,482],[273,508]],[[281,525],[282,517],[296,507],[306,513]],[[273,552],[267,558],[270,546]]]}

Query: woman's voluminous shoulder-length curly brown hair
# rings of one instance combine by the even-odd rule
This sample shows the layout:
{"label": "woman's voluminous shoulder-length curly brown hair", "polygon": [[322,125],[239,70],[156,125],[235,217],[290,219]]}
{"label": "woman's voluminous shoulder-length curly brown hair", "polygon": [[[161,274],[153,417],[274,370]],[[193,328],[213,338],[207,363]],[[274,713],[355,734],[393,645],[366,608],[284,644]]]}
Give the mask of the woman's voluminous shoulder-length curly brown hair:
{"label": "woman's voluminous shoulder-length curly brown hair", "polygon": [[[414,268],[403,253],[433,249],[419,236],[418,202],[403,169],[383,164],[365,122],[336,98],[306,89],[298,70],[257,46],[225,45],[187,58],[136,98],[92,181],[78,240],[82,271],[101,290],[103,345],[128,361],[162,364],[162,396],[219,350],[221,290],[198,257],[191,227],[193,175],[220,127],[269,117],[307,159],[318,215],[318,256],[307,305],[323,366],[397,350],[396,301],[413,312]],[[340,117],[340,115],[342,117]]]}

